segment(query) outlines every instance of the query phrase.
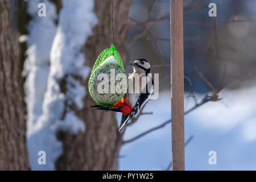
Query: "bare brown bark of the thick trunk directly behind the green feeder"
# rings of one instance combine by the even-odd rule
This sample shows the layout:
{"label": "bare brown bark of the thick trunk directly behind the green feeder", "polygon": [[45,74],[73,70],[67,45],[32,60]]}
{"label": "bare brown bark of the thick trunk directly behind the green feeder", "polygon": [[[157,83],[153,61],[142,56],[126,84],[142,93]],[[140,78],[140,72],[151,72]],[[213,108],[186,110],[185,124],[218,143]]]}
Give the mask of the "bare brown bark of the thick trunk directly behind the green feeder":
{"label": "bare brown bark of the thick trunk directly behind the green feeder", "polygon": [[[125,52],[123,42],[126,39],[126,33],[120,35],[120,31],[129,18],[131,2],[131,0],[114,0],[115,47],[120,55]],[[113,42],[111,1],[96,0],[94,12],[98,17],[98,24],[93,30],[93,36],[87,40],[84,50],[85,64],[91,68],[100,52],[109,48]],[[78,117],[85,122],[85,133],[78,135],[62,133],[60,135],[59,138],[63,141],[63,155],[57,161],[56,169],[117,169],[117,156],[113,158],[119,135],[115,114],[90,108],[95,102],[88,91],[88,79],[83,83],[87,93],[84,98],[84,108],[77,113]]]}

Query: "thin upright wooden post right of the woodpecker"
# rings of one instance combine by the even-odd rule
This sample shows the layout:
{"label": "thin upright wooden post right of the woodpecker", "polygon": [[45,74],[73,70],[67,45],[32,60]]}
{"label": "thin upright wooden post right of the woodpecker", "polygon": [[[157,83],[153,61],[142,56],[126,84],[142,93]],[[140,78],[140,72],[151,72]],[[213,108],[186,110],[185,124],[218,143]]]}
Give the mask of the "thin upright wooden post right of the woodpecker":
{"label": "thin upright wooden post right of the woodpecker", "polygon": [[170,0],[172,170],[184,170],[183,1]]}

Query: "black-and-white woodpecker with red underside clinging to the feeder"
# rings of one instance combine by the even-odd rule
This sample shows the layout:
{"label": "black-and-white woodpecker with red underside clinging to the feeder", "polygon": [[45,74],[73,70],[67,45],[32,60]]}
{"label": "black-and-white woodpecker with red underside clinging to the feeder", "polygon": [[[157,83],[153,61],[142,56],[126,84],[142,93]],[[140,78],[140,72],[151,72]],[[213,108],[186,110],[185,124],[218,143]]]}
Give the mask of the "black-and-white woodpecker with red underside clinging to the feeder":
{"label": "black-and-white woodpecker with red underside clinging to the feeder", "polygon": [[[146,59],[138,59],[133,63],[130,63],[133,67],[133,73],[128,77],[129,80],[129,92],[119,102],[113,106],[105,107],[95,105],[96,109],[105,111],[115,111],[122,113],[122,119],[119,126],[119,131],[123,129],[130,119],[147,103],[154,90],[154,81],[152,80],[150,73],[150,64]],[[142,79],[142,77],[147,79]],[[139,77],[139,81],[135,77]],[[135,82],[134,82],[135,81]],[[146,82],[145,82],[146,81]],[[131,89],[131,87],[133,89]],[[139,89],[138,89],[139,88]]]}

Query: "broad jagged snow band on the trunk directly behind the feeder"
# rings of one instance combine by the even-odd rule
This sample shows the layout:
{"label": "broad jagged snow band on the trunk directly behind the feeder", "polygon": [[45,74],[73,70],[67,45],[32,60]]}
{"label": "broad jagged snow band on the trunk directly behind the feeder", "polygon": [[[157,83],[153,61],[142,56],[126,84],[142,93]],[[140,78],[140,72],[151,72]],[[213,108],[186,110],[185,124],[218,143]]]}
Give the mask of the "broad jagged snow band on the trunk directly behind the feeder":
{"label": "broad jagged snow band on the trunk directly behind the feeder", "polygon": [[[80,82],[90,73],[90,68],[84,66],[82,48],[97,23],[93,13],[94,0],[63,0],[62,5],[51,46],[43,113],[28,137],[32,169],[55,169],[55,162],[62,152],[57,131],[70,131],[72,134],[85,131],[84,122],[75,113],[84,106],[82,98],[86,94]],[[40,150],[46,152],[46,165],[37,163]]]}

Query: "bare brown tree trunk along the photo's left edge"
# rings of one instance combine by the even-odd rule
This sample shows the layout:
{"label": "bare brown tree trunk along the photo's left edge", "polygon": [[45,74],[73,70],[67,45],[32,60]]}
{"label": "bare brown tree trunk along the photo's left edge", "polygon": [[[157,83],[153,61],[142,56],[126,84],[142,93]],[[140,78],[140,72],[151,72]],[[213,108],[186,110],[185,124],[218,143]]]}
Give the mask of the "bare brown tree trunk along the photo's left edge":
{"label": "bare brown tree trunk along the photo's left edge", "polygon": [[27,170],[26,125],[10,1],[0,0],[0,170]]}

